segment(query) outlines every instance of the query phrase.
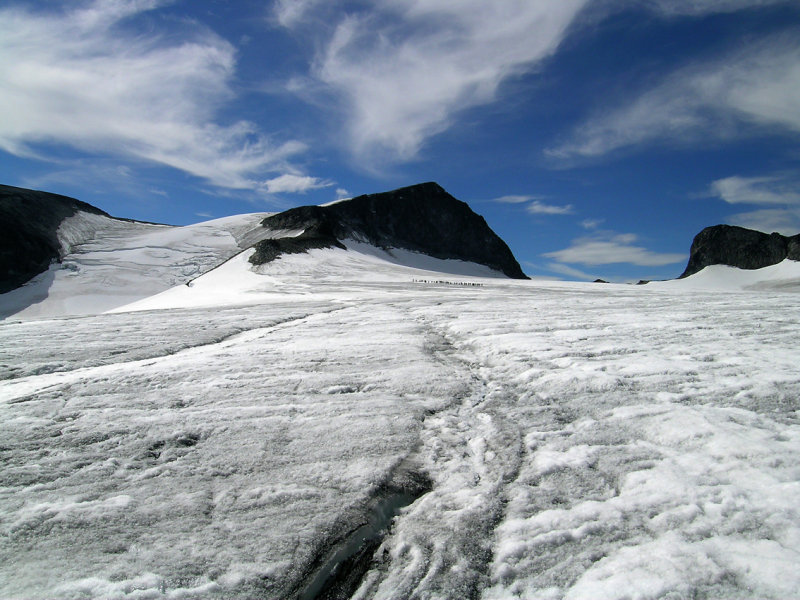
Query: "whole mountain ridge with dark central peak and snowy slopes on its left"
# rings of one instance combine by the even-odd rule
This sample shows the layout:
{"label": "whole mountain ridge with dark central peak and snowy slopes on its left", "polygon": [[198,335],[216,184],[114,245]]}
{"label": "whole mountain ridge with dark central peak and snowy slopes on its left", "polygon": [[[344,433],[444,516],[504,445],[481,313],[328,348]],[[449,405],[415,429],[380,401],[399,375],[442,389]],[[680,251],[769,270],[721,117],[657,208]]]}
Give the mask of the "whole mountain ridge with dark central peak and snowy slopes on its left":
{"label": "whole mountain ridge with dark central peak and snowy slopes on its left", "polygon": [[[38,231],[31,231],[32,224],[41,226],[36,215],[49,215],[47,230],[40,236],[46,239],[42,245],[48,253],[37,258],[35,269],[26,271],[28,277],[36,269],[39,274],[21,287],[14,285],[20,283],[15,267],[6,269],[3,280],[15,289],[0,295],[0,318],[97,314],[186,283],[195,287],[193,299],[185,299],[192,305],[200,301],[208,305],[210,296],[198,290],[209,285],[226,293],[230,301],[235,301],[232,290],[248,287],[251,293],[243,301],[253,301],[259,290],[274,289],[276,280],[270,276],[279,273],[293,274],[294,283],[297,278],[309,279],[308,273],[345,279],[389,273],[402,279],[440,273],[525,277],[483,218],[436,184],[361,196],[328,207],[301,207],[274,216],[238,215],[186,227],[116,219],[63,196],[7,189],[11,191],[4,202],[17,213],[24,212],[24,218],[14,212],[0,215],[6,228],[22,232],[23,238],[38,239]],[[319,237],[322,223],[327,232],[324,240]],[[6,263],[26,264],[29,251],[24,244],[16,238],[2,243],[0,254],[7,256]],[[332,251],[314,252],[310,262],[285,256],[266,264],[267,253],[274,259],[313,248]],[[294,268],[295,264],[302,266]],[[213,275],[194,282],[212,270],[216,271]],[[254,277],[256,272],[263,276]],[[221,280],[224,285],[219,284]],[[310,284],[313,281],[304,285]],[[183,302],[186,294],[179,288],[171,295]]]}

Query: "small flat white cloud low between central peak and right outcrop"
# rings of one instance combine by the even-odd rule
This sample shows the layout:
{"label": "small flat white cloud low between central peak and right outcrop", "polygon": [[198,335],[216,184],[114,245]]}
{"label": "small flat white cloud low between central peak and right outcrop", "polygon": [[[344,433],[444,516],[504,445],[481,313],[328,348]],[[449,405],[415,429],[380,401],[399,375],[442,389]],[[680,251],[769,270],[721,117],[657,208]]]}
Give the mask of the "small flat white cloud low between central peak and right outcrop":
{"label": "small flat white cloud low between central peak and right outcrop", "polygon": [[603,233],[573,240],[564,250],[543,254],[562,263],[588,266],[625,263],[643,267],[658,267],[686,260],[685,254],[658,253],[634,246],[637,236],[632,233]]}

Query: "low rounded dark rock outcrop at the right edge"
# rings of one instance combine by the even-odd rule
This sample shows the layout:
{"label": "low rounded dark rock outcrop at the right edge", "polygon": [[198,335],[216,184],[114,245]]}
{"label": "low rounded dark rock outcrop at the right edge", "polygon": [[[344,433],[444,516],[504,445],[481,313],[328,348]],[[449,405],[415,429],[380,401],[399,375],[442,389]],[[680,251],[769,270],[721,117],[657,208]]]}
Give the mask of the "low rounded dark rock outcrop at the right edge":
{"label": "low rounded dark rock outcrop at the right edge", "polygon": [[800,234],[786,237],[734,225],[715,225],[695,236],[681,277],[694,275],[709,265],[761,269],[786,258],[800,260]]}

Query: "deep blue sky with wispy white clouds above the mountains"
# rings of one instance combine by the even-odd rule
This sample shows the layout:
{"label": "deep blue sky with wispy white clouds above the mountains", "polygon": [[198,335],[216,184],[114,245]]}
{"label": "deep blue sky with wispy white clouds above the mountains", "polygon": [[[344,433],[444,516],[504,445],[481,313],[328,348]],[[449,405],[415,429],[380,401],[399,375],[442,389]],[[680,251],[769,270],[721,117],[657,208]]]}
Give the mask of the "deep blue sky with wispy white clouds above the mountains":
{"label": "deep blue sky with wispy white clouds above the mountains", "polygon": [[434,180],[531,276],[800,231],[796,0],[0,8],[0,182],[188,224]]}

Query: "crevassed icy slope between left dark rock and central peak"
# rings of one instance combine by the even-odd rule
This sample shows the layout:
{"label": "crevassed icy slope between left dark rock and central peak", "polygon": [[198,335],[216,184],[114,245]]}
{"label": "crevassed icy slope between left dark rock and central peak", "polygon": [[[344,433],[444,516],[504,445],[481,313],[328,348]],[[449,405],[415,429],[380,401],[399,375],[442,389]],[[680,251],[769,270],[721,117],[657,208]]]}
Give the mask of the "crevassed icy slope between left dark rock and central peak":
{"label": "crevassed icy slope between left dark rock and central peak", "polygon": [[60,264],[0,295],[0,318],[96,314],[157,294],[215,267],[240,251],[266,213],[185,227],[78,212],[64,220]]}

